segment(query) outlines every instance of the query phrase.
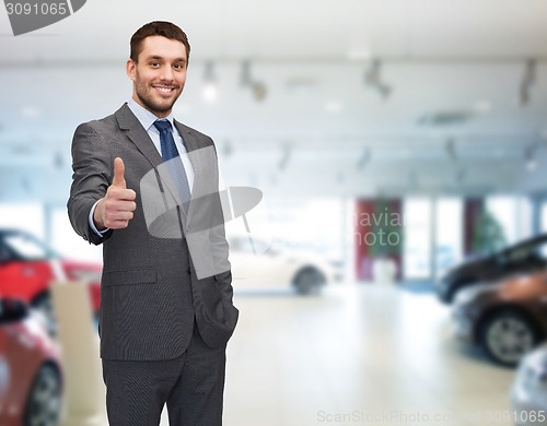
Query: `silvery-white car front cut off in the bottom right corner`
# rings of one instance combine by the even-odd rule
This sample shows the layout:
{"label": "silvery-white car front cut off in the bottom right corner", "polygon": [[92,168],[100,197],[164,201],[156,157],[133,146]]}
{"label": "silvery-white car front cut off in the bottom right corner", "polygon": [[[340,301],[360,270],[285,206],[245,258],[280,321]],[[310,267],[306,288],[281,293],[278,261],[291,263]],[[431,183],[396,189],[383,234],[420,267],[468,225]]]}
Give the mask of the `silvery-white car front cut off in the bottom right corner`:
{"label": "silvery-white car front cut off in the bottom right corner", "polygon": [[511,388],[511,405],[515,425],[547,425],[547,343],[521,362]]}

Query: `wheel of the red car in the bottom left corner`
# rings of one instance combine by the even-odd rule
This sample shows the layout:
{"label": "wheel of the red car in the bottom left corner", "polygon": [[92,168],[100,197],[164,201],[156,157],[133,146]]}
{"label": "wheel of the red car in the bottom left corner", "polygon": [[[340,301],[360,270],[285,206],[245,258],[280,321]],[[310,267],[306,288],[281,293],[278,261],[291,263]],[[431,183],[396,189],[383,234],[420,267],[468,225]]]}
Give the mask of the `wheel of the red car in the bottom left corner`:
{"label": "wheel of the red car in the bottom left corner", "polygon": [[56,426],[61,410],[61,380],[57,369],[45,364],[38,370],[26,401],[23,426]]}

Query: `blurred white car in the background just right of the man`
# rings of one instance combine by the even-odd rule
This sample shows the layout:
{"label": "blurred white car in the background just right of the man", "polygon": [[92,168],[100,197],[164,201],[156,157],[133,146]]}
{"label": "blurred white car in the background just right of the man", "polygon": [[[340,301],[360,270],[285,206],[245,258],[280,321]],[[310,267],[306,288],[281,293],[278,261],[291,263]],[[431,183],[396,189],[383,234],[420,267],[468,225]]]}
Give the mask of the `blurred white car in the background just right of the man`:
{"label": "blurred white car in the background just right of the man", "polygon": [[328,263],[301,253],[283,253],[251,235],[228,236],[233,287],[237,289],[293,287],[317,293],[333,280]]}

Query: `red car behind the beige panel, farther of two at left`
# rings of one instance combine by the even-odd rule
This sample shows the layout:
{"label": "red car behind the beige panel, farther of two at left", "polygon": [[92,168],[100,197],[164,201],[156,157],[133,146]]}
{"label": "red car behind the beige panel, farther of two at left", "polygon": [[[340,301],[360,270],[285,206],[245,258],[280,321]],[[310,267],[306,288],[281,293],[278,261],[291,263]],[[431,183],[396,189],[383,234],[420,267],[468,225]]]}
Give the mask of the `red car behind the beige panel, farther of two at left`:
{"label": "red car behind the beige panel, farther of two at left", "polygon": [[60,258],[46,244],[16,229],[0,229],[0,296],[15,297],[54,318],[49,284],[74,280],[90,285],[92,310],[101,305],[101,264]]}

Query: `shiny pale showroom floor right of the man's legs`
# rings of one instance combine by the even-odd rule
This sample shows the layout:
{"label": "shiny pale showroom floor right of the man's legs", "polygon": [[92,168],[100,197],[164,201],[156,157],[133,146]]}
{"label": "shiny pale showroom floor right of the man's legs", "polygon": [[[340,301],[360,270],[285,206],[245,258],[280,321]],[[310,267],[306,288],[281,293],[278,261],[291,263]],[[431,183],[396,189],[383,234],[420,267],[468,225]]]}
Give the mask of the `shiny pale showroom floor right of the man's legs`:
{"label": "shiny pale showroom floor right of the man's legs", "polygon": [[333,285],[236,293],[235,304],[226,426],[511,424],[500,418],[514,371],[455,341],[430,293]]}

